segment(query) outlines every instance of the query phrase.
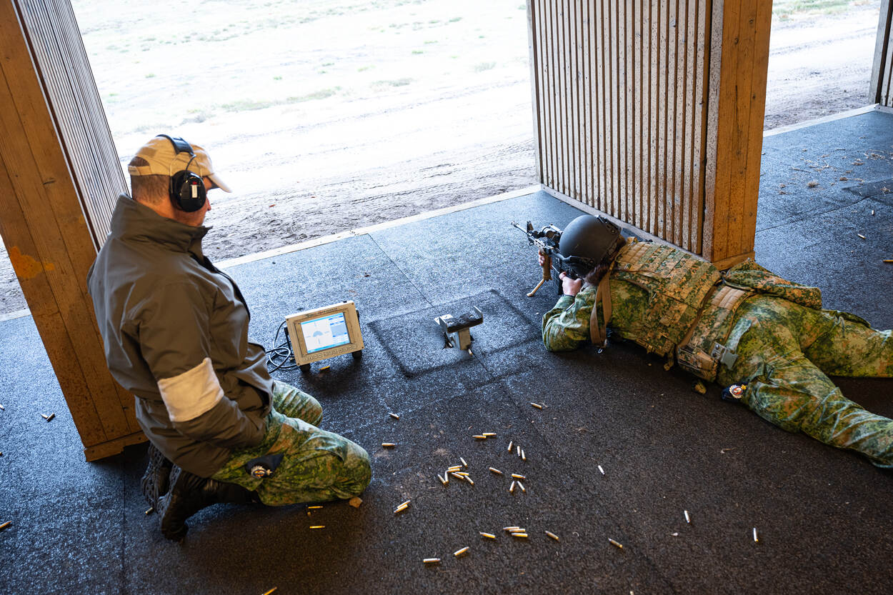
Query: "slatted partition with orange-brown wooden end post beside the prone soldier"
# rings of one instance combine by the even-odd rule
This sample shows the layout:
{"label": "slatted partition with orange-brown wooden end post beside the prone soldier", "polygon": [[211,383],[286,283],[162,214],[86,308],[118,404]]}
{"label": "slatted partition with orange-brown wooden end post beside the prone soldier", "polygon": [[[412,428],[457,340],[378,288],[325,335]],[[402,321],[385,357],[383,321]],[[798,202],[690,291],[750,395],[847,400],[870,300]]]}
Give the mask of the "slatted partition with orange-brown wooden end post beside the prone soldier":
{"label": "slatted partition with orange-brown wooden end post beside the prone soldier", "polygon": [[752,256],[771,10],[529,0],[540,182],[714,262]]}

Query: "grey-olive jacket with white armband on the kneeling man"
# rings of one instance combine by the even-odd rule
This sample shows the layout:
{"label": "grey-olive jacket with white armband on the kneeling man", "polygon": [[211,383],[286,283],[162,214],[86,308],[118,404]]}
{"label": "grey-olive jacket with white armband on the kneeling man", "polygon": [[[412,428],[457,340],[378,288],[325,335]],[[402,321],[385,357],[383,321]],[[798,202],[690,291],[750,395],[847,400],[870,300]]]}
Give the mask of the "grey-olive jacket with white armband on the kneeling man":
{"label": "grey-olive jacket with white armband on the kneeling man", "polygon": [[249,342],[238,286],[202,253],[209,228],[164,218],[126,195],[88,272],[113,377],[136,396],[149,440],[191,473],[263,440],[272,381]]}

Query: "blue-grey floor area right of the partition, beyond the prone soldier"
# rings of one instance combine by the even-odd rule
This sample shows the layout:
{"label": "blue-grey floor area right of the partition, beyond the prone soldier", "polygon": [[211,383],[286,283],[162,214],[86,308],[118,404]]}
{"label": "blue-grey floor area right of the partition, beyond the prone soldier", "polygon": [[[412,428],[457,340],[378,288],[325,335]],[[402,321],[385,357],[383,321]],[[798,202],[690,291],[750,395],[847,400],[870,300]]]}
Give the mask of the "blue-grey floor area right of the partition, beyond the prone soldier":
{"label": "blue-grey floor area right of the partition, beyond the prone soldier", "polygon": [[756,261],[820,287],[826,308],[893,328],[893,113],[769,136],[763,150]]}

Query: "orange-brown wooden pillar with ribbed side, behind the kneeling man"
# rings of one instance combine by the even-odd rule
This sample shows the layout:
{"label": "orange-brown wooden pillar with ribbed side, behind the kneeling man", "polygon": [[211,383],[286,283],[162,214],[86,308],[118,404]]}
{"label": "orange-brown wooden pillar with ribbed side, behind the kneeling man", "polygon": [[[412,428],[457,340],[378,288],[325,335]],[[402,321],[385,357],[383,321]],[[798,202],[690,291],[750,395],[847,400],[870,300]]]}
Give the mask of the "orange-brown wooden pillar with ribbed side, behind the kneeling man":
{"label": "orange-brown wooden pillar with ribbed side, behind the kneeling man", "polygon": [[[85,66],[89,73],[67,0],[0,0],[0,235],[93,460],[145,437],[133,397],[105,365],[87,294],[97,245],[96,207],[88,203],[104,192],[96,178],[126,187],[104,114],[90,109],[96,86],[92,74],[84,80]],[[63,122],[72,110],[87,125]]]}

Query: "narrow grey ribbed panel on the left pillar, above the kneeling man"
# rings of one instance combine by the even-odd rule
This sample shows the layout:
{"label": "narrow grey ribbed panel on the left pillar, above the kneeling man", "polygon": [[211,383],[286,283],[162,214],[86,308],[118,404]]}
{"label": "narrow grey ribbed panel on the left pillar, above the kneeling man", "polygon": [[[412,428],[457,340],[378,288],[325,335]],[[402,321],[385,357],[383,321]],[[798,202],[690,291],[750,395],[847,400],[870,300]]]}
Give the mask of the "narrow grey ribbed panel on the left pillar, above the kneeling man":
{"label": "narrow grey ribbed panel on the left pillar, above the kneeling man", "polygon": [[127,183],[69,0],[13,0],[98,249]]}

